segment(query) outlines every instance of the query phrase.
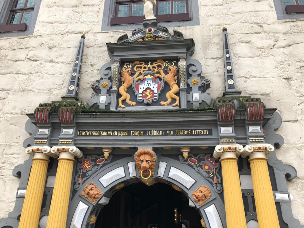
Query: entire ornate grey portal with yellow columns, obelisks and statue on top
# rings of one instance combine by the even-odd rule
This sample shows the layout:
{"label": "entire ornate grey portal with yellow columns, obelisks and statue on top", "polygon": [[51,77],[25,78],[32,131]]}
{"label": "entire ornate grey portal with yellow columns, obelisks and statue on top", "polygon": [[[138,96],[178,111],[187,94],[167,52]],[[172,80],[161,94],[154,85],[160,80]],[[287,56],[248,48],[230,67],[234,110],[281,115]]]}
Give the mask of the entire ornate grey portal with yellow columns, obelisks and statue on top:
{"label": "entire ornate grey portal with yellow columns, obelisks and statue on top", "polygon": [[227,29],[226,89],[213,100],[211,81],[192,59],[194,41],[149,19],[153,2],[144,2],[143,27],[107,43],[110,60],[87,104],[78,96],[83,34],[66,96],[28,114],[31,137],[23,145],[33,161],[14,169],[21,177],[16,205],[0,228],[38,227],[41,219],[47,228],[93,228],[112,195],[139,181],[182,192],[203,227],[252,220],[260,228],[301,227],[284,178],[296,171],[273,152],[284,143],[275,134],[281,118],[261,99],[240,95]]}

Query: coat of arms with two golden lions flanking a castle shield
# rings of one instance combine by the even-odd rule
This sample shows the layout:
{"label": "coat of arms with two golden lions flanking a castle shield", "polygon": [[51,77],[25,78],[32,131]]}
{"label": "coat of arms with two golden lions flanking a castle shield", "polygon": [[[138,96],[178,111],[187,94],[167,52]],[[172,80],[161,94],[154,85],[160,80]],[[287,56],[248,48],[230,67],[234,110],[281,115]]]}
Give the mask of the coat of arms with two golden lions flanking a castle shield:
{"label": "coat of arms with two golden lions flanking a castle shield", "polygon": [[[137,101],[144,101],[144,104],[147,105],[152,104],[152,101],[158,101],[165,83],[170,86],[170,91],[166,93],[167,101],[161,101],[160,105],[167,106],[171,103],[172,99],[175,99],[176,102],[172,104],[172,107],[179,106],[179,97],[176,95],[179,92],[177,85],[178,67],[175,65],[175,62],[158,59],[154,63],[149,61],[147,64],[138,60],[133,63],[125,63],[121,69],[121,86],[118,90],[121,97],[118,99],[118,107],[126,107],[123,105],[123,101],[126,101],[131,106],[136,105],[136,102],[131,101],[131,95],[128,93],[128,88],[131,86],[135,92]],[[168,69],[164,69],[165,66]],[[168,74],[165,74],[164,71],[167,71]],[[134,75],[131,76],[132,74]]]}

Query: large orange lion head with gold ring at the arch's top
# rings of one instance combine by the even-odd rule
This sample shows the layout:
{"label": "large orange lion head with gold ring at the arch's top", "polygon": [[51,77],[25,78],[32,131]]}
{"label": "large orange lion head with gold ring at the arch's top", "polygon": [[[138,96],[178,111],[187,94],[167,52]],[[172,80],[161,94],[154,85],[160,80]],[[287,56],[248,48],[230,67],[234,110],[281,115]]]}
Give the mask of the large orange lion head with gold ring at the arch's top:
{"label": "large orange lion head with gold ring at the arch's top", "polygon": [[156,157],[152,150],[149,149],[138,150],[135,154],[134,160],[139,174],[141,174],[142,172],[144,176],[148,176],[150,175],[150,171],[151,171],[151,176],[153,176]]}

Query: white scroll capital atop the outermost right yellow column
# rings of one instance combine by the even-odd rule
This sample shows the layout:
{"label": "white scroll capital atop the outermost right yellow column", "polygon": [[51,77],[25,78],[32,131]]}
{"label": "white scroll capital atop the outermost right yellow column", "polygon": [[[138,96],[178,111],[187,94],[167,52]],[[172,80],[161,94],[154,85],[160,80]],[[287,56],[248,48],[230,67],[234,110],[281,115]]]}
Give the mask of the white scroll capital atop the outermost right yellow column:
{"label": "white scroll capital atop the outermost right yellow column", "polygon": [[250,158],[252,157],[266,157],[266,155],[270,154],[272,151],[275,150],[270,144],[251,144],[247,145],[244,148],[244,152],[242,153],[242,157],[245,158],[249,155]]}

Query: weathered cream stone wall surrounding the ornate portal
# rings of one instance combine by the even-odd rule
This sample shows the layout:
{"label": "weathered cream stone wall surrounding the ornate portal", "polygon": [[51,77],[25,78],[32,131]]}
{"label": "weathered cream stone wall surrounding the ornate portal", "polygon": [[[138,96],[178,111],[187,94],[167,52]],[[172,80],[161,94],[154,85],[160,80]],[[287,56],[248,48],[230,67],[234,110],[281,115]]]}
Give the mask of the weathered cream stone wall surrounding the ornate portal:
{"label": "weathered cream stone wall surrounding the ornate portal", "polygon": [[[105,43],[126,31],[101,32],[102,0],[43,0],[33,36],[0,39],[0,218],[13,209],[19,179],[12,169],[27,155],[26,113],[65,94],[76,47],[86,29],[80,98],[108,60]],[[194,58],[211,80],[212,98],[224,89],[222,25],[226,22],[238,88],[278,108],[285,139],[277,156],[298,171],[288,183],[295,218],[304,224],[304,19],[280,20],[272,0],[199,0],[201,26],[175,28],[196,44]],[[173,28],[169,28],[172,32]],[[131,31],[127,31],[131,34]]]}

